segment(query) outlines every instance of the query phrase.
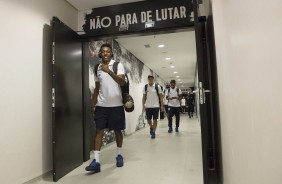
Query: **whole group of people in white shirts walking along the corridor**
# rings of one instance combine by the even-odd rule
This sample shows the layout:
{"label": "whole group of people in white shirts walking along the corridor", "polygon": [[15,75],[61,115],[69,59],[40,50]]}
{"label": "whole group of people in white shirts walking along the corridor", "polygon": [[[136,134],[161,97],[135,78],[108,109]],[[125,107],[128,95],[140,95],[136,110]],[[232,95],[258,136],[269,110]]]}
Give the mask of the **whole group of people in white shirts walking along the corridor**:
{"label": "whole group of people in white shirts walking along the corridor", "polygon": [[[120,86],[126,83],[125,70],[122,63],[116,63],[117,65],[115,65],[115,61],[112,59],[113,52],[110,44],[103,44],[100,47],[98,56],[102,61],[96,67],[97,71],[95,71],[94,75],[95,89],[91,105],[96,126],[94,159],[90,165],[85,168],[86,171],[94,173],[101,171],[100,150],[102,147],[104,129],[114,130],[117,145],[116,166],[122,167],[124,165],[122,156],[122,130],[125,129],[125,99],[123,98]],[[116,66],[116,68],[114,66]],[[152,139],[156,138],[160,112],[163,112],[168,117],[168,133],[172,133],[173,130],[179,132],[180,113],[185,112],[183,103],[181,103],[183,102],[183,98],[185,100],[185,97],[182,97],[181,89],[176,87],[175,80],[171,80],[170,85],[167,85],[163,90],[160,85],[154,82],[154,76],[148,76],[148,84],[143,88],[142,111],[146,114]],[[193,113],[192,115],[188,113],[188,115],[191,117]],[[175,129],[173,129],[172,123],[174,116]]]}

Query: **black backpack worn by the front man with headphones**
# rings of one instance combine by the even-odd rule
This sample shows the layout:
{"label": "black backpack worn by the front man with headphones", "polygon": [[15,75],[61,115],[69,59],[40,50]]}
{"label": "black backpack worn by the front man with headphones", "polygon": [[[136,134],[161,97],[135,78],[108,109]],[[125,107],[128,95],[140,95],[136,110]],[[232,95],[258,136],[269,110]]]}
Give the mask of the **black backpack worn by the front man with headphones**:
{"label": "black backpack worn by the front man with headphones", "polygon": [[[117,74],[117,67],[118,67],[118,64],[119,62],[114,62],[113,64],[113,72],[115,74]],[[94,72],[95,72],[95,76],[97,77],[97,71],[98,71],[98,67],[99,67],[100,63],[99,64],[96,64],[95,67],[94,67]],[[121,89],[121,94],[122,94],[122,100],[123,100],[123,103],[125,104],[127,100],[132,100],[133,101],[133,98],[129,95],[129,79],[128,79],[128,76],[127,74],[124,74],[125,75],[125,84],[123,86],[120,86],[120,89]],[[126,108],[125,107],[125,111],[126,112],[132,112],[134,110],[134,105],[132,108]]]}

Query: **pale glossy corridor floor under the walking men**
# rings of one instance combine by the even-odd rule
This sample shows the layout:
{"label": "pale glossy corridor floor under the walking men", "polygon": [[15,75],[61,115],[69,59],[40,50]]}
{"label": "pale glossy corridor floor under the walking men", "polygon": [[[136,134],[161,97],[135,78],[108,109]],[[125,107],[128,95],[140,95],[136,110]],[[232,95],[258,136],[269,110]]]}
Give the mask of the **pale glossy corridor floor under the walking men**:
{"label": "pale glossy corridor floor under the walking men", "polygon": [[[161,120],[156,139],[148,126],[124,139],[124,167],[115,166],[116,145],[102,148],[101,172],[89,174],[80,167],[57,183],[80,184],[203,184],[200,122],[181,115],[179,132],[167,132],[167,120]],[[91,155],[91,160],[93,155]],[[33,183],[52,183],[47,177]]]}

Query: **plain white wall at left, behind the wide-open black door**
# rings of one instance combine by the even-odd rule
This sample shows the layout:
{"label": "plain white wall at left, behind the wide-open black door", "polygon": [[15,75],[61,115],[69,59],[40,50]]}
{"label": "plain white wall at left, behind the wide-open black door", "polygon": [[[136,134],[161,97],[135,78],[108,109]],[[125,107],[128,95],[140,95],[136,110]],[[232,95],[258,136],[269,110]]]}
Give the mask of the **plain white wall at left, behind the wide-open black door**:
{"label": "plain white wall at left, behind the wide-open black door", "polygon": [[57,16],[76,30],[78,15],[64,0],[1,0],[0,7],[0,183],[22,183],[52,169],[47,25]]}

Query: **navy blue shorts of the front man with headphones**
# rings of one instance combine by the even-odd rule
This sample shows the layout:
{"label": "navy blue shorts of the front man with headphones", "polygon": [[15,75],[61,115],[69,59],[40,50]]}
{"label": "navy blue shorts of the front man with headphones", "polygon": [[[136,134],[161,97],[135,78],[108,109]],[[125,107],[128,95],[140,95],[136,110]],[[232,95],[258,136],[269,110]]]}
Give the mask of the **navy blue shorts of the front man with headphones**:
{"label": "navy blue shorts of the front man with headphones", "polygon": [[124,107],[100,107],[96,106],[94,113],[96,129],[124,130],[125,114]]}

